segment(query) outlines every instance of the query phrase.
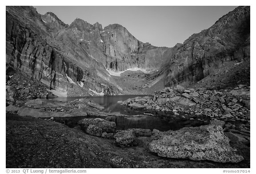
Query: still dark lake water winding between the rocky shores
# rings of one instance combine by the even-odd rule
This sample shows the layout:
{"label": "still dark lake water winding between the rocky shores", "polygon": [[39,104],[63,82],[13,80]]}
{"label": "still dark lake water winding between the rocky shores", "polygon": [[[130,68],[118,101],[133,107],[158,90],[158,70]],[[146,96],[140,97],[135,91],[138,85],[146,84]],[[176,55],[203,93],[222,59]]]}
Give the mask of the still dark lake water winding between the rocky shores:
{"label": "still dark lake water winding between the rocky shores", "polygon": [[[116,122],[116,127],[118,130],[125,130],[128,128],[144,128],[144,129],[158,129],[160,131],[168,130],[178,130],[184,127],[195,127],[204,124],[208,124],[208,121],[200,121],[197,119],[189,120],[190,118],[195,118],[195,116],[190,116],[187,114],[180,114],[174,117],[172,113],[156,112],[154,110],[144,110],[137,109],[134,110],[128,106],[123,106],[118,104],[117,101],[125,101],[128,98],[143,97],[145,95],[123,95],[123,96],[96,96],[96,97],[86,97],[92,101],[100,104],[104,107],[104,112],[110,114],[124,114],[127,116],[101,116],[100,118],[106,119],[108,121]],[[67,98],[54,98],[57,101],[74,101],[79,97],[67,97]],[[80,97],[81,98],[81,97]],[[144,113],[151,113],[154,116],[145,115]],[[143,115],[143,116],[134,116]],[[185,116],[186,118],[182,118]],[[95,116],[83,116],[83,117],[61,117],[54,118],[55,121],[63,122],[69,127],[77,126],[77,121],[84,118],[96,118]],[[203,120],[203,119],[201,119]]]}

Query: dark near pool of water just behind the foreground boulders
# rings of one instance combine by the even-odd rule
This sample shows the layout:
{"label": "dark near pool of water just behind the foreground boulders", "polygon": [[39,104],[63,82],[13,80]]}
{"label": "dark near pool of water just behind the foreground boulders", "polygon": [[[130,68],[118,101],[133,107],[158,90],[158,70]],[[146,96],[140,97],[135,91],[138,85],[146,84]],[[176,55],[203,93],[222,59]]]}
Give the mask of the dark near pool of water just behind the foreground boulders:
{"label": "dark near pool of water just behind the foreground boulders", "polygon": [[158,129],[160,131],[168,131],[178,130],[184,127],[196,127],[206,124],[198,120],[183,120],[159,116],[108,116],[106,120],[116,122],[116,127],[118,130],[125,130],[129,128],[143,128],[151,130]]}

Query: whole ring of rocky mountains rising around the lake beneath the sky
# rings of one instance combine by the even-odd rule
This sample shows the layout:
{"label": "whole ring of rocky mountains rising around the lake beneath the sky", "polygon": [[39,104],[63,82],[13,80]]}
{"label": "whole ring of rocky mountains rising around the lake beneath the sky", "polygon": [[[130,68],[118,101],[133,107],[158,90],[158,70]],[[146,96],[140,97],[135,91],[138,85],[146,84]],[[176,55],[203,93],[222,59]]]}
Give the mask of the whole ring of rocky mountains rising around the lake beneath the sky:
{"label": "whole ring of rocky mountains rising around the lake beneath the sky", "polygon": [[68,96],[124,94],[123,80],[112,75],[125,70],[155,70],[145,76],[148,85],[143,86],[152,91],[195,83],[225,68],[224,62],[249,58],[248,6],[172,48],[142,43],[119,24],[102,28],[77,18],[68,25],[52,12],[6,7],[7,64]]}

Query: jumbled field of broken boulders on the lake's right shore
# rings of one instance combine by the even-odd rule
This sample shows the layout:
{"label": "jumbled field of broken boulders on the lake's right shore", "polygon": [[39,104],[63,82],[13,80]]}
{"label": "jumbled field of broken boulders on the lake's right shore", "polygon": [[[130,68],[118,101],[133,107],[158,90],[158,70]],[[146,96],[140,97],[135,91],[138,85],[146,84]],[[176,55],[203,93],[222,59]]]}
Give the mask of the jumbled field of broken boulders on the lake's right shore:
{"label": "jumbled field of broken boulders on the lake's right shore", "polygon": [[238,133],[250,140],[250,86],[247,85],[218,91],[206,88],[185,89],[177,85],[152,96],[136,97],[120,103],[135,109],[169,112],[173,117],[187,113],[211,120],[223,120],[224,132]]}

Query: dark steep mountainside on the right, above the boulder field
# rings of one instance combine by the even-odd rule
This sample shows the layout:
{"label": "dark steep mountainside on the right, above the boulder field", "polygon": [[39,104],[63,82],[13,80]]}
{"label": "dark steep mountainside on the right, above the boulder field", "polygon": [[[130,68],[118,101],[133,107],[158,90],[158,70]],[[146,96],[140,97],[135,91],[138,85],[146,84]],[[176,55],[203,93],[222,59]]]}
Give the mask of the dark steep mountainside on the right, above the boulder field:
{"label": "dark steep mountainside on the right, above the boulder field", "polygon": [[223,62],[250,58],[250,7],[238,7],[212,27],[189,37],[167,64],[151,78],[164,74],[166,86],[199,81]]}

